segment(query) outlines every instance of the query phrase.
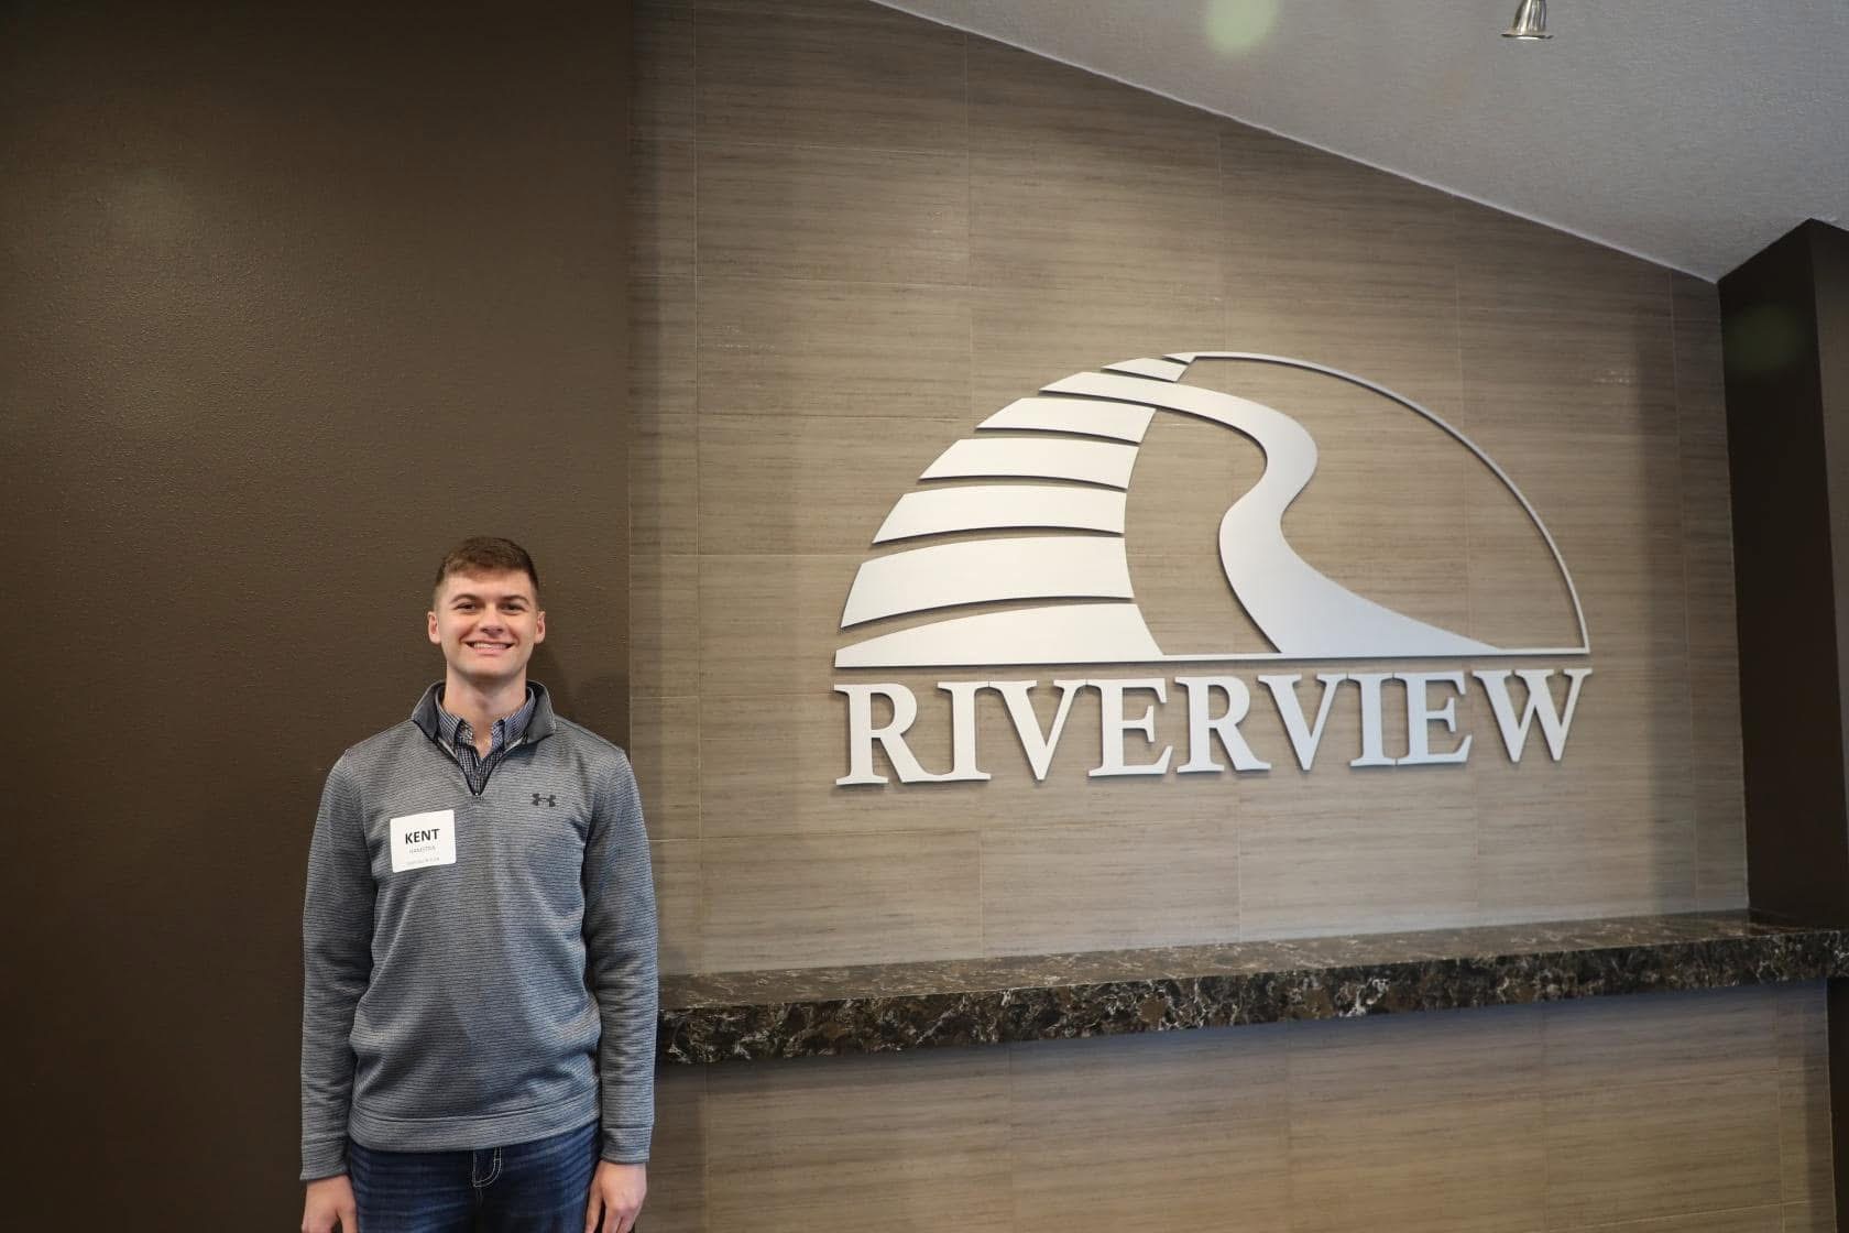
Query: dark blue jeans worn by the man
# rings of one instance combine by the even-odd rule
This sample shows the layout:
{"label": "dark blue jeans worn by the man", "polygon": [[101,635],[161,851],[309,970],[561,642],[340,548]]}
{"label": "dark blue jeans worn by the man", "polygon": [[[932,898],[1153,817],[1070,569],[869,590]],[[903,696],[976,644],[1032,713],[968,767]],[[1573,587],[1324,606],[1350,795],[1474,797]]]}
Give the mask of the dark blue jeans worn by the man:
{"label": "dark blue jeans worn by the man", "polygon": [[597,1122],[481,1152],[348,1144],[362,1233],[584,1233]]}

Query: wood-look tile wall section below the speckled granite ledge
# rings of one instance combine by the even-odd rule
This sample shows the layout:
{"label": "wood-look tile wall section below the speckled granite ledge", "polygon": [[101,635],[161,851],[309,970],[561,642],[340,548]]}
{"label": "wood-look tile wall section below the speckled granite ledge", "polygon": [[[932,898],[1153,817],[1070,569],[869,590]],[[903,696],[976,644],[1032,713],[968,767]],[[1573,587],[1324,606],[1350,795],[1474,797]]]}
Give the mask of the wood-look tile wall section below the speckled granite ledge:
{"label": "wood-look tile wall section below the speckled granite ledge", "polygon": [[1818,985],[660,1076],[647,1227],[1821,1233]]}

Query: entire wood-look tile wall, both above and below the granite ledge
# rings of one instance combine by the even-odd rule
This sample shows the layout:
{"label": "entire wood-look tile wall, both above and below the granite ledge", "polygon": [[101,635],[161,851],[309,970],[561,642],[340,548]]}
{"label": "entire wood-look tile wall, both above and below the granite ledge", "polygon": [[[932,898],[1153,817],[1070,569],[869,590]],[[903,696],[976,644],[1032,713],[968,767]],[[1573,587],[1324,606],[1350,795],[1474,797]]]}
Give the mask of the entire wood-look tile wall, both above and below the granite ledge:
{"label": "entire wood-look tile wall, both above and below the granite ledge", "polygon": [[[1744,906],[1712,287],[860,0],[636,7],[632,754],[666,967]],[[891,503],[1013,397],[1174,349],[1363,373],[1507,470],[1592,634],[1564,763],[1511,765],[1472,693],[1463,767],[1352,771],[1348,702],[1311,775],[1259,719],[1267,775],[1093,780],[1087,691],[1043,784],[987,708],[991,782],[834,787],[841,603]],[[1315,433],[1285,527],[1331,577],[1503,645],[1577,632],[1531,523],[1429,425],[1298,373],[1189,381]],[[1152,427],[1128,545],[1165,647],[1263,647],[1183,538],[1261,470],[1233,434]],[[956,675],[889,677],[930,767]],[[1389,749],[1403,728],[1390,708]],[[671,1068],[645,1224],[1821,1229],[1821,1006]]]}

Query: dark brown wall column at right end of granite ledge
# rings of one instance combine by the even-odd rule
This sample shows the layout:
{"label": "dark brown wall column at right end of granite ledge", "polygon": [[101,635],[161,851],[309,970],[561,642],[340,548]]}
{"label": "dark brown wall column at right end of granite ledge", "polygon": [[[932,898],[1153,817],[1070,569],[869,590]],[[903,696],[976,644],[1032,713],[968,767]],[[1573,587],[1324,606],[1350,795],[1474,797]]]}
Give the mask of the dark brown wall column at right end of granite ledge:
{"label": "dark brown wall column at right end of granite ledge", "polygon": [[1806,222],[1721,279],[1747,876],[1849,922],[1849,233]]}

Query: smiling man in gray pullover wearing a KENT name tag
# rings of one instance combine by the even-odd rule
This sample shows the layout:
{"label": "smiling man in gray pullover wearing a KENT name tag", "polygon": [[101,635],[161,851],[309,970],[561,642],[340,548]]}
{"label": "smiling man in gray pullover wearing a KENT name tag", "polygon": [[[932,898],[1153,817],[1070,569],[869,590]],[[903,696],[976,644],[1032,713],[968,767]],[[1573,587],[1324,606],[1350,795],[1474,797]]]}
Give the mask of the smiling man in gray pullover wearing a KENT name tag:
{"label": "smiling man in gray pullover wearing a KENT name tag", "polygon": [[533,558],[436,571],[444,680],[346,751],[309,848],[303,1233],[627,1233],[655,1120],[655,893],[623,751],[553,714]]}

